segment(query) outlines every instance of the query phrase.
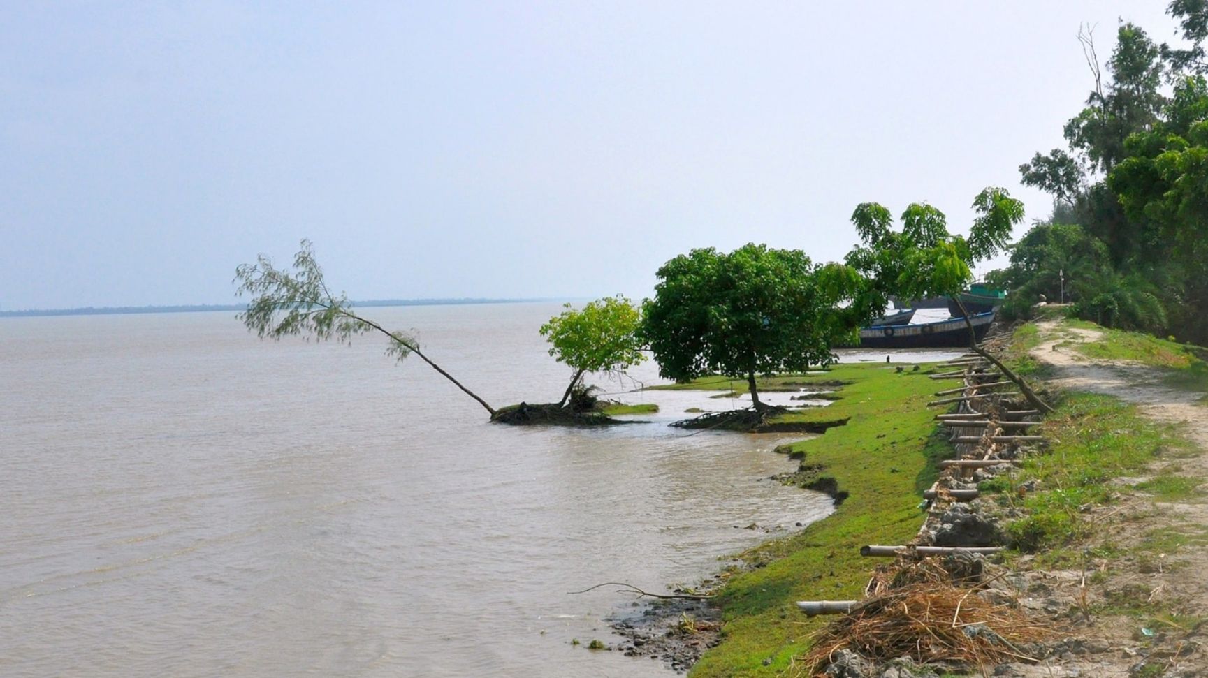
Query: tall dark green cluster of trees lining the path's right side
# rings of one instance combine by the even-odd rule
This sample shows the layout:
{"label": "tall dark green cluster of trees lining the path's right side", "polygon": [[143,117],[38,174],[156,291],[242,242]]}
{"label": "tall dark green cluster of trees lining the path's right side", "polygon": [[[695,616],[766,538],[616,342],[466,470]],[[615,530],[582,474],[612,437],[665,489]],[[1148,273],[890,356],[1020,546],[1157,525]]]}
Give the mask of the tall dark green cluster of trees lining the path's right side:
{"label": "tall dark green cluster of trees lining the path's right side", "polygon": [[1024,183],[1053,195],[1053,216],[995,276],[1033,300],[1064,270],[1078,315],[1206,341],[1208,2],[1173,0],[1167,13],[1191,46],[1156,45],[1122,23],[1105,75],[1082,36],[1094,88],[1064,128],[1068,151],[1020,168]]}

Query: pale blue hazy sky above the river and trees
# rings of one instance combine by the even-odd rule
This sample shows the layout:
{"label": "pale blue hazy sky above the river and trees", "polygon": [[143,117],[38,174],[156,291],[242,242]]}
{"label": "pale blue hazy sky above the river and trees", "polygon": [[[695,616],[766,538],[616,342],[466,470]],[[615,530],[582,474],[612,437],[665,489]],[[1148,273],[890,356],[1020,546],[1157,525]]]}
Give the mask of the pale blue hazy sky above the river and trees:
{"label": "pale blue hazy sky above the river and trees", "polygon": [[[692,247],[963,230],[1161,1],[0,6],[0,309],[231,303],[314,241],[353,298],[650,294]],[[1021,234],[1022,229],[1017,230]]]}

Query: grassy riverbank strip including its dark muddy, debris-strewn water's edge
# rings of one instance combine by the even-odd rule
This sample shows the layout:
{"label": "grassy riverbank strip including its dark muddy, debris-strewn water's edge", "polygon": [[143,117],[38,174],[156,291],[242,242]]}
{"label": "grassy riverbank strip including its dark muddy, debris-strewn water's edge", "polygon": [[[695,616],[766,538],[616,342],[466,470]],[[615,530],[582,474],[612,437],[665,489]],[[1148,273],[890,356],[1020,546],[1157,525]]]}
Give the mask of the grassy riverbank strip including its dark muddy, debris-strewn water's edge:
{"label": "grassy riverbank strip including its dark muddy, debris-strewn water's edge", "polygon": [[[933,413],[924,407],[935,391],[935,381],[927,378],[935,373],[933,366],[914,369],[906,363],[899,372],[898,364],[840,364],[825,374],[784,378],[805,388],[825,382],[842,397],[785,416],[795,423],[846,419],[844,425],[777,448],[801,460],[795,473],[777,480],[827,491],[835,512],[739,554],[741,565],[702,583],[715,584],[708,603],[655,604],[645,615],[649,621],[620,623],[617,631],[628,643],[622,651],[663,656],[676,670],[696,656],[691,676],[772,676],[786,670],[823,624],[803,618],[796,601],[859,597],[870,569],[859,545],[899,543],[918,530],[919,492],[934,481],[931,461],[942,450],[942,440],[931,437]],[[774,380],[768,381],[774,387]],[[681,387],[710,386],[702,381]],[[685,626],[697,631],[684,633]],[[655,649],[645,649],[651,645]]]}

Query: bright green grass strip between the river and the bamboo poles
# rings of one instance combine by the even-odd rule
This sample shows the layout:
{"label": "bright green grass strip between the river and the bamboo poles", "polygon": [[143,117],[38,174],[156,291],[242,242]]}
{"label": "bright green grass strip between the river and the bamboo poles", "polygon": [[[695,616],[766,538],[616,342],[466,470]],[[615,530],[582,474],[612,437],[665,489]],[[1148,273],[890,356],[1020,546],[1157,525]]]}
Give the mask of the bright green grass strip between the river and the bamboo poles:
{"label": "bright green grass strip between the river and the bamboo poles", "polygon": [[733,574],[719,592],[722,642],[704,654],[691,676],[784,674],[792,657],[808,650],[811,632],[827,621],[803,616],[796,602],[859,598],[877,565],[860,556],[860,547],[902,543],[918,532],[919,486],[934,473],[931,460],[942,451],[941,440],[931,438],[935,411],[925,407],[947,384],[927,378],[934,372],[856,364],[836,366],[824,375],[784,378],[808,386],[849,382],[842,401],[791,413],[806,419],[849,416],[847,426],[785,450],[803,454],[806,464],[820,466],[819,473],[834,478],[849,496],[832,515],[803,531],[742,554],[755,567]]}

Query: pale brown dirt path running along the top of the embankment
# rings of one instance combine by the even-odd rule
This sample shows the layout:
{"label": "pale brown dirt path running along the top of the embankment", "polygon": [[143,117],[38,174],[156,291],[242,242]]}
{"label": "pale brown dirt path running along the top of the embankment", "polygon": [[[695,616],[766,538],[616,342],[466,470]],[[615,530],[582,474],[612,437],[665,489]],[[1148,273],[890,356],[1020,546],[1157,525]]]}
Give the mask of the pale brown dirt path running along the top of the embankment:
{"label": "pale brown dirt path running along the top of the embankment", "polygon": [[[1156,460],[1150,472],[1208,479],[1208,407],[1197,404],[1203,393],[1166,386],[1160,369],[1092,361],[1076,351],[1078,344],[1100,339],[1100,332],[1057,322],[1040,322],[1039,329],[1044,343],[1032,355],[1052,369],[1050,386],[1115,396],[1137,404],[1148,417],[1178,426],[1198,450]],[[1084,571],[1028,575],[1036,607],[1073,626],[1069,651],[1039,666],[1012,665],[995,676],[1208,677],[1208,497],[1160,502],[1128,489],[1145,479],[1117,479],[1120,501],[1094,509],[1092,520],[1102,528],[1087,553],[1099,548],[1108,555],[1088,559]],[[1136,549],[1155,534],[1174,536],[1169,553],[1156,559]],[[1125,609],[1138,606],[1151,614]],[[1087,609],[1093,610],[1088,619]],[[1149,621],[1152,618],[1167,621]]]}

